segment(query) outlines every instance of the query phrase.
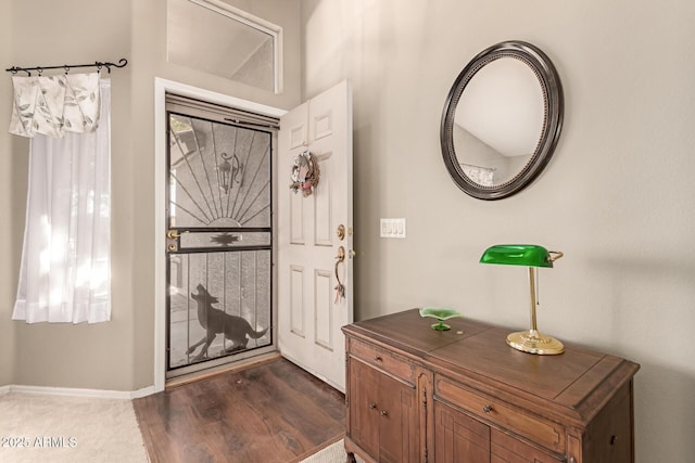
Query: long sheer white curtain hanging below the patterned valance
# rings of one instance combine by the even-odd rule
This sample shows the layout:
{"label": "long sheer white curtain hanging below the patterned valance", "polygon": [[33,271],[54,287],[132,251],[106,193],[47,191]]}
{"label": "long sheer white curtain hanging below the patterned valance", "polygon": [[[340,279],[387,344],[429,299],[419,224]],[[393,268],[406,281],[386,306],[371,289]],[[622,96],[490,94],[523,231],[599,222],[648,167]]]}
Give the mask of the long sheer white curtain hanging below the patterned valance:
{"label": "long sheer white curtain hanging below the patterned valance", "polygon": [[27,214],[12,319],[111,319],[111,81],[97,130],[31,139]]}

